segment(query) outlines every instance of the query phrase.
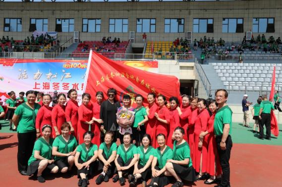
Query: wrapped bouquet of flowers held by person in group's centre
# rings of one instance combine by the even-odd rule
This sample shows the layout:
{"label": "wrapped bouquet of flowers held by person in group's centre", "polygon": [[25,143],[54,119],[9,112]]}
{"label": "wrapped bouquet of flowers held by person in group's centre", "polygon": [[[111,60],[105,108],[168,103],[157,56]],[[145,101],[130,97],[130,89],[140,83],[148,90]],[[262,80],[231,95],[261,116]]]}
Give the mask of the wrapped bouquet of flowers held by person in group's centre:
{"label": "wrapped bouquet of flowers held by person in group's centre", "polygon": [[134,121],[134,114],[133,111],[121,110],[116,113],[116,121],[119,125],[119,133],[124,135],[124,133],[128,132],[132,134],[131,125]]}

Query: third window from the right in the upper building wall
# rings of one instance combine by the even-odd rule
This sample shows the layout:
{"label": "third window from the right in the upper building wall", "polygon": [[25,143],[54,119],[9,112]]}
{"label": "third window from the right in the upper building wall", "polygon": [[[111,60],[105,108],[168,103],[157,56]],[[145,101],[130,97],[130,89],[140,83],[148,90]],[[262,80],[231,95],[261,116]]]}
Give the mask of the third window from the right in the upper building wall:
{"label": "third window from the right in the upper building wall", "polygon": [[213,33],[214,19],[193,19],[193,33]]}

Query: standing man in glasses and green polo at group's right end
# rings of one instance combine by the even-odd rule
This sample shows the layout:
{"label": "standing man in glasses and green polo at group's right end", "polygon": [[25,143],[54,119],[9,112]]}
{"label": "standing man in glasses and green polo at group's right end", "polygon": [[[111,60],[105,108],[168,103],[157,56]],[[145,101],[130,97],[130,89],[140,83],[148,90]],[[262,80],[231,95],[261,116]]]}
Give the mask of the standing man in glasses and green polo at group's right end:
{"label": "standing man in glasses and green polo at group's right end", "polygon": [[230,153],[232,148],[231,126],[232,126],[232,111],[227,106],[226,101],[228,92],[225,89],[216,91],[216,101],[219,105],[218,112],[214,121],[214,132],[216,135],[217,148],[222,167],[222,180],[219,186],[215,187],[230,187]]}

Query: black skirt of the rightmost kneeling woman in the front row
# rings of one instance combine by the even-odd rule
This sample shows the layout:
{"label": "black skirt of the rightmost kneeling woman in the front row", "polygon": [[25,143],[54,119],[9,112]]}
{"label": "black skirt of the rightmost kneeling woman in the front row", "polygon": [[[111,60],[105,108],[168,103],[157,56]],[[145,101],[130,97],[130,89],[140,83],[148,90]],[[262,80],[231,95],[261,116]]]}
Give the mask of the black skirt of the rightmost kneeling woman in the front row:
{"label": "black skirt of the rightmost kneeling woman in the front row", "polygon": [[196,181],[195,170],[193,166],[185,167],[179,164],[172,163],[175,173],[183,180],[194,182]]}

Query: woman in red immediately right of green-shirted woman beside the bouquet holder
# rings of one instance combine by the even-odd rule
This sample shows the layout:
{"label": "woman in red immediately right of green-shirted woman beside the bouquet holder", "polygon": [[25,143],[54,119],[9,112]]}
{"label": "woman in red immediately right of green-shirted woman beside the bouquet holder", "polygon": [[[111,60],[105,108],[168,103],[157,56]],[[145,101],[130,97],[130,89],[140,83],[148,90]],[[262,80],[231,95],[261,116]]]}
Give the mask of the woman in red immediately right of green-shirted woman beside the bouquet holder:
{"label": "woman in red immediately right of green-shirted woman beside the bouquet holder", "polygon": [[154,93],[149,93],[147,95],[147,101],[149,106],[146,108],[148,123],[146,126],[146,133],[150,135],[152,138],[152,146],[154,148],[157,147],[157,134],[156,134],[156,123],[157,118],[155,117],[155,113],[158,112],[158,105],[156,104],[156,95]]}

